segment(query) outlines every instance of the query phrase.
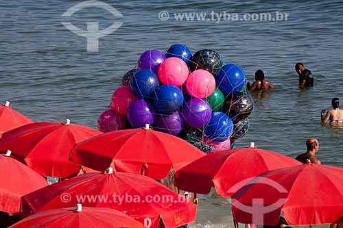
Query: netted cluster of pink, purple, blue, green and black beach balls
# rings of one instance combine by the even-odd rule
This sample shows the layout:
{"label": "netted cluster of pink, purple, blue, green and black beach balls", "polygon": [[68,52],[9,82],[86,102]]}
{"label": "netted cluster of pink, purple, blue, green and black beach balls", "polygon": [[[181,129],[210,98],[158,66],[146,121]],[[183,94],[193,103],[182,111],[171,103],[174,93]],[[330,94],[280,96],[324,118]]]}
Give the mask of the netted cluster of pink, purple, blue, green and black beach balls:
{"label": "netted cluster of pink, purple, blue, green and black beach balls", "polygon": [[205,152],[229,149],[248,131],[253,101],[246,74],[210,49],[192,55],[185,45],[151,49],[123,75],[99,131],[140,128],[184,138]]}

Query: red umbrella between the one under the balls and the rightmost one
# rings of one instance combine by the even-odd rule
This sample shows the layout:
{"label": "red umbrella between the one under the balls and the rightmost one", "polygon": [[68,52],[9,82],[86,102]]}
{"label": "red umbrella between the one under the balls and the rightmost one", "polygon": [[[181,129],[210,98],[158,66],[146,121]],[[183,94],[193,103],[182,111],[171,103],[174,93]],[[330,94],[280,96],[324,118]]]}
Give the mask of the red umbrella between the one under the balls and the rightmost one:
{"label": "red umbrella between the one under the balls and the rightmost one", "polygon": [[257,149],[252,145],[200,157],[176,171],[175,181],[182,190],[208,194],[214,186],[222,197],[230,197],[252,177],[268,170],[299,164],[292,157]]}

